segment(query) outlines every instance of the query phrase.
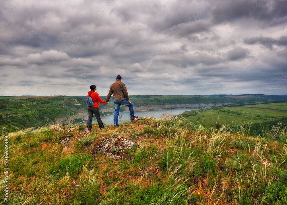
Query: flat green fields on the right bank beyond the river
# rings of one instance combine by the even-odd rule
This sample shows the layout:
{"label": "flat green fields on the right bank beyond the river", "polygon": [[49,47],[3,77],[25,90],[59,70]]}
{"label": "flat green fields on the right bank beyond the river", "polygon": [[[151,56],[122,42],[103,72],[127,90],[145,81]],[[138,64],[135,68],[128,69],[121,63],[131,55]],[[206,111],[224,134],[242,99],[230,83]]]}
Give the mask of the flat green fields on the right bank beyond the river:
{"label": "flat green fields on the right bank beyond the river", "polygon": [[[287,126],[287,102],[245,106],[222,106],[203,110],[186,111],[181,114],[188,122],[203,126],[216,126],[216,122],[237,127],[251,124],[251,132],[263,135],[278,123]],[[265,130],[265,131],[264,131]]]}

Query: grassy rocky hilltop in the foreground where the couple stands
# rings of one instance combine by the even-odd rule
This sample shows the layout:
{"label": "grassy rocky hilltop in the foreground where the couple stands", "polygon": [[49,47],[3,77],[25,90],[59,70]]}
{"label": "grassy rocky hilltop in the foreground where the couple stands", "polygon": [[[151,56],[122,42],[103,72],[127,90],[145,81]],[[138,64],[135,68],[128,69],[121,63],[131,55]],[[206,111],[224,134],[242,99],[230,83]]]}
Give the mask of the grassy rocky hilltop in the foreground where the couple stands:
{"label": "grassy rocky hilltop in the foreground where the couple stands", "polygon": [[117,128],[85,129],[7,133],[9,162],[5,166],[2,158],[0,167],[2,173],[10,168],[6,204],[287,203],[286,128],[257,138],[245,126],[139,118]]}

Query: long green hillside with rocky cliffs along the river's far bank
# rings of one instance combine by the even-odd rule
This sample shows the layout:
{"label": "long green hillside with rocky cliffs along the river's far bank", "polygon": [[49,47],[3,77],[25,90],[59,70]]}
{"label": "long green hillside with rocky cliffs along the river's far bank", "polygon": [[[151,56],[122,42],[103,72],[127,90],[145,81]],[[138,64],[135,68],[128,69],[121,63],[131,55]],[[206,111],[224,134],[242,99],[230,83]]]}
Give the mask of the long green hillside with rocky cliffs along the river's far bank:
{"label": "long green hillside with rocky cliffs along the river's far bank", "polygon": [[[101,96],[106,99],[106,96]],[[286,100],[287,95],[131,95],[135,111],[207,108],[251,102]],[[100,104],[100,114],[114,112],[113,99]],[[125,110],[126,109],[126,110]],[[121,106],[121,112],[127,111]],[[10,96],[0,97],[0,134],[45,124],[72,124],[87,119],[86,96]]]}

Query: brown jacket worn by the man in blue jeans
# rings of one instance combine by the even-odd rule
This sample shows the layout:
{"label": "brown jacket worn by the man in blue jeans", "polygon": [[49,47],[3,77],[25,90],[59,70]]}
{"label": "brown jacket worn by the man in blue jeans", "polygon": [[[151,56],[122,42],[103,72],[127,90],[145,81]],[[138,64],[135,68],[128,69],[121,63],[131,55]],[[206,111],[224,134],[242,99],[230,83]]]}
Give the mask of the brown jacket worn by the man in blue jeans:
{"label": "brown jacket worn by the man in blue jeans", "polygon": [[127,88],[125,87],[125,83],[122,83],[120,79],[117,79],[115,83],[110,86],[110,91],[108,92],[106,102],[110,100],[110,97],[113,95],[113,99],[129,100],[129,94],[127,93]]}

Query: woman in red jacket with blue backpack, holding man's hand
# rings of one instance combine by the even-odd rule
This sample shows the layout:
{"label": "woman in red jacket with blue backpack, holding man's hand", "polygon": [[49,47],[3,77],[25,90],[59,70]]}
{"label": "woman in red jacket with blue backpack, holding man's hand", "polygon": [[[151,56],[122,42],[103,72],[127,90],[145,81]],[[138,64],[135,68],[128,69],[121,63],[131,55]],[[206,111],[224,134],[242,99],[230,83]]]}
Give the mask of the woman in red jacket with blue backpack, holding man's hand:
{"label": "woman in red jacket with blue backpack, holding man's hand", "polygon": [[[107,105],[108,102],[102,100],[100,98],[100,96],[98,95],[98,93],[96,93],[96,85],[91,85],[90,86],[90,91],[88,92],[88,96],[91,95],[92,100],[94,101],[94,105],[91,107],[88,107],[88,122],[87,122],[87,126],[88,126],[88,132],[92,131],[92,120],[93,120],[93,116],[95,114],[96,119],[98,121],[99,127],[100,129],[106,128],[102,122],[101,116],[100,116],[100,111],[99,111],[99,103],[105,104]],[[87,96],[87,97],[88,97]]]}

